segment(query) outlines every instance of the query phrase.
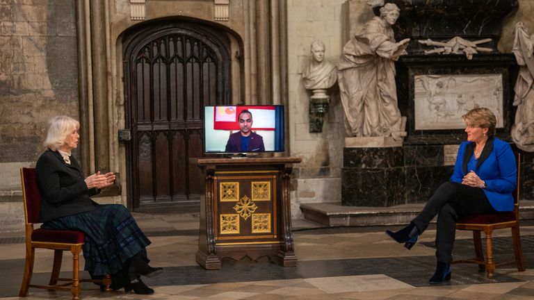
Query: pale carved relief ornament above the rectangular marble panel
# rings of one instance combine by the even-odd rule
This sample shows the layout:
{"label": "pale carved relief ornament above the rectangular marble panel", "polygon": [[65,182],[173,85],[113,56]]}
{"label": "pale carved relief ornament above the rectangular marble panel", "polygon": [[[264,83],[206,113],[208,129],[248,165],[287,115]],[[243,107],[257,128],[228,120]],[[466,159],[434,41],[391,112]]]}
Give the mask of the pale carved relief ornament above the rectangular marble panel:
{"label": "pale carved relief ornament above the rectangular marble panel", "polygon": [[427,40],[418,40],[419,44],[425,44],[427,46],[437,46],[438,48],[434,48],[432,50],[425,51],[425,54],[433,54],[433,53],[443,53],[443,54],[461,54],[465,53],[465,56],[468,60],[471,60],[473,58],[473,54],[480,52],[491,52],[493,51],[491,48],[485,48],[485,47],[478,47],[478,44],[484,44],[487,42],[491,42],[492,39],[484,39],[484,40],[476,40],[476,41],[469,41],[465,40],[464,38],[460,38],[458,36],[455,36],[454,38],[451,38],[451,40],[448,40],[446,42],[435,42],[433,40],[427,39]]}

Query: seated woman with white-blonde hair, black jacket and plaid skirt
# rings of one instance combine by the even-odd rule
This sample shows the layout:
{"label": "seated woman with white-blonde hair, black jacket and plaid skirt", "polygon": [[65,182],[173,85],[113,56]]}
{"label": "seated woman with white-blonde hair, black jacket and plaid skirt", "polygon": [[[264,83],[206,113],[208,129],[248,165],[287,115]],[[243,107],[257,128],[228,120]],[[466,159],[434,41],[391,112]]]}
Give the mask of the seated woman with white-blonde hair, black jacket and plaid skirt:
{"label": "seated woman with white-blonde hair, black jacket and plaid skirt", "polygon": [[85,269],[92,277],[112,275],[112,288],[153,294],[140,276],[155,276],[161,268],[148,265],[150,241],[129,211],[120,204],[100,205],[90,199],[113,185],[115,174],[97,172],[86,177],[71,151],[78,147],[79,122],[58,116],[50,120],[35,173],[42,195],[42,228],[83,231]]}

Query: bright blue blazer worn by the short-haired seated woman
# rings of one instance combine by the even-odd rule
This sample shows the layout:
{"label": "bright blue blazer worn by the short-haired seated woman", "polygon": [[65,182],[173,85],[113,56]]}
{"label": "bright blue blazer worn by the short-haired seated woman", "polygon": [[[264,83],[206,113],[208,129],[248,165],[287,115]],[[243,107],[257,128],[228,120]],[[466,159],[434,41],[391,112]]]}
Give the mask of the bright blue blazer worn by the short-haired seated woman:
{"label": "bright blue blazer worn by the short-haired seated woman", "polygon": [[[467,169],[467,163],[474,149],[474,142],[460,144],[451,181],[462,183],[462,178],[471,171]],[[517,186],[517,165],[510,144],[497,138],[487,140],[473,171],[485,181],[487,188],[483,191],[495,210],[514,210],[512,192]]]}

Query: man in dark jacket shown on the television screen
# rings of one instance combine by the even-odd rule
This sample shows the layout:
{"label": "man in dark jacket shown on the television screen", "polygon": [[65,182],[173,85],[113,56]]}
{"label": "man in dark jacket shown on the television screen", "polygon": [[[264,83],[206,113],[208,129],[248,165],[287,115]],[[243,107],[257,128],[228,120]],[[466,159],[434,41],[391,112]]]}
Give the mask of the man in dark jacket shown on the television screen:
{"label": "man in dark jacket shown on the television screen", "polygon": [[263,152],[265,151],[264,138],[261,135],[253,133],[252,113],[248,110],[241,110],[238,117],[240,130],[232,133],[226,143],[225,152]]}

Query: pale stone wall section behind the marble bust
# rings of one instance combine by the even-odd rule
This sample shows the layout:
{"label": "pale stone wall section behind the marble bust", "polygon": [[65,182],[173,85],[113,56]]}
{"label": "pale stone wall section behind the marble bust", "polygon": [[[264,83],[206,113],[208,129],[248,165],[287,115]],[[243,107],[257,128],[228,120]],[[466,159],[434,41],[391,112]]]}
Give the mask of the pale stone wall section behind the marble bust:
{"label": "pale stone wall section behind the marble bust", "polygon": [[302,157],[293,172],[291,213],[300,217],[300,203],[341,201],[341,164],[344,128],[337,85],[322,133],[309,133],[309,97],[302,84],[302,70],[311,59],[310,44],[325,44],[325,60],[337,65],[343,49],[345,0],[287,1],[289,62],[289,146],[291,156]]}

